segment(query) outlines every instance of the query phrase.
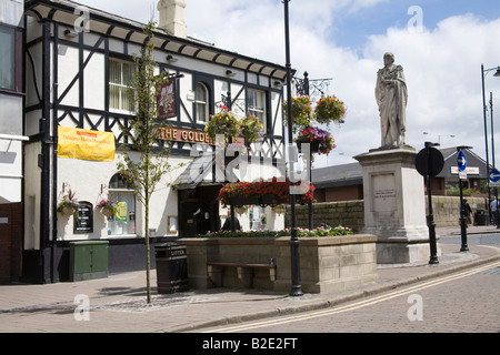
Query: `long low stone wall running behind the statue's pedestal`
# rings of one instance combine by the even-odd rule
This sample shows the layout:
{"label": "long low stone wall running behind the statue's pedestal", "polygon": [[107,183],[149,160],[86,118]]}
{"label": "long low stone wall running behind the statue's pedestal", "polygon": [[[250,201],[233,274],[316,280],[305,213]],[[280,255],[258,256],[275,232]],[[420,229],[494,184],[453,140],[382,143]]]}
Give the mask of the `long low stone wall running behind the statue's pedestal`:
{"label": "long low stone wall running behind the statue's pedestal", "polygon": [[[469,202],[472,214],[478,210],[488,209],[488,199],[466,197]],[[426,195],[426,215],[428,214],[428,199]],[[439,226],[458,226],[460,216],[460,197],[458,196],[432,196],[432,212],[434,223]],[[289,212],[289,209],[287,210]],[[297,205],[297,225],[307,229],[309,224],[308,206]],[[473,217],[473,215],[472,215]],[[319,202],[313,204],[312,215],[313,226],[326,223],[331,226],[343,225],[351,227],[354,232],[360,232],[364,226],[364,204],[363,200],[346,202]],[[290,226],[290,213],[286,215],[287,226]]]}

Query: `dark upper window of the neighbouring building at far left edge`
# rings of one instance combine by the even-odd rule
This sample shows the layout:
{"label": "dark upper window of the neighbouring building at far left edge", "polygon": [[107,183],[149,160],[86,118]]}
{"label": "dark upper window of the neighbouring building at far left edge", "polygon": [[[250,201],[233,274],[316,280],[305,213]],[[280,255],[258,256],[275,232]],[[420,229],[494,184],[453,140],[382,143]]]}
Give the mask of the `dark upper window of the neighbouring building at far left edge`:
{"label": "dark upper window of the neighbouring building at far left edge", "polygon": [[16,29],[0,27],[0,88],[16,90]]}

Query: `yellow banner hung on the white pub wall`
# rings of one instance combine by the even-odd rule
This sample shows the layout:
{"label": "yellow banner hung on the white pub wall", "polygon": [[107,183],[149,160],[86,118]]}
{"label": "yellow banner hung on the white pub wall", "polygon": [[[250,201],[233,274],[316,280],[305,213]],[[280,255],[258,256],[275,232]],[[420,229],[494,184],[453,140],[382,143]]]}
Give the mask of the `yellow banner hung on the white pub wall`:
{"label": "yellow banner hung on the white pub wall", "polygon": [[58,155],[62,158],[114,161],[114,134],[58,126]]}

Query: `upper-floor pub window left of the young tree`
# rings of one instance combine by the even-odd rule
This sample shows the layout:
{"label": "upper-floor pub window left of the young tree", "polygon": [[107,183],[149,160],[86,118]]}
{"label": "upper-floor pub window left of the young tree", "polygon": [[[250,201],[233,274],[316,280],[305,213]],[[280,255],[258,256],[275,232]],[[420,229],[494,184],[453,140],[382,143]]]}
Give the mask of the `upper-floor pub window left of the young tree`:
{"label": "upper-floor pub window left of the young tree", "polygon": [[136,64],[119,60],[109,63],[109,106],[114,110],[134,111],[133,94],[128,85],[133,80]]}

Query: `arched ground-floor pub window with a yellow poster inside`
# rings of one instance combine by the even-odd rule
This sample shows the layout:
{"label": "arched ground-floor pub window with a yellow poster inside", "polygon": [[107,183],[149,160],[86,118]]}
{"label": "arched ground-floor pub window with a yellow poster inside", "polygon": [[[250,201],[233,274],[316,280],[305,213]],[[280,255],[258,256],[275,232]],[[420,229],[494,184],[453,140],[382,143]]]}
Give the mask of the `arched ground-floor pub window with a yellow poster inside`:
{"label": "arched ground-floor pub window with a yellow poster inside", "polygon": [[120,174],[111,178],[108,199],[118,207],[117,214],[108,220],[108,235],[136,234],[136,193]]}

